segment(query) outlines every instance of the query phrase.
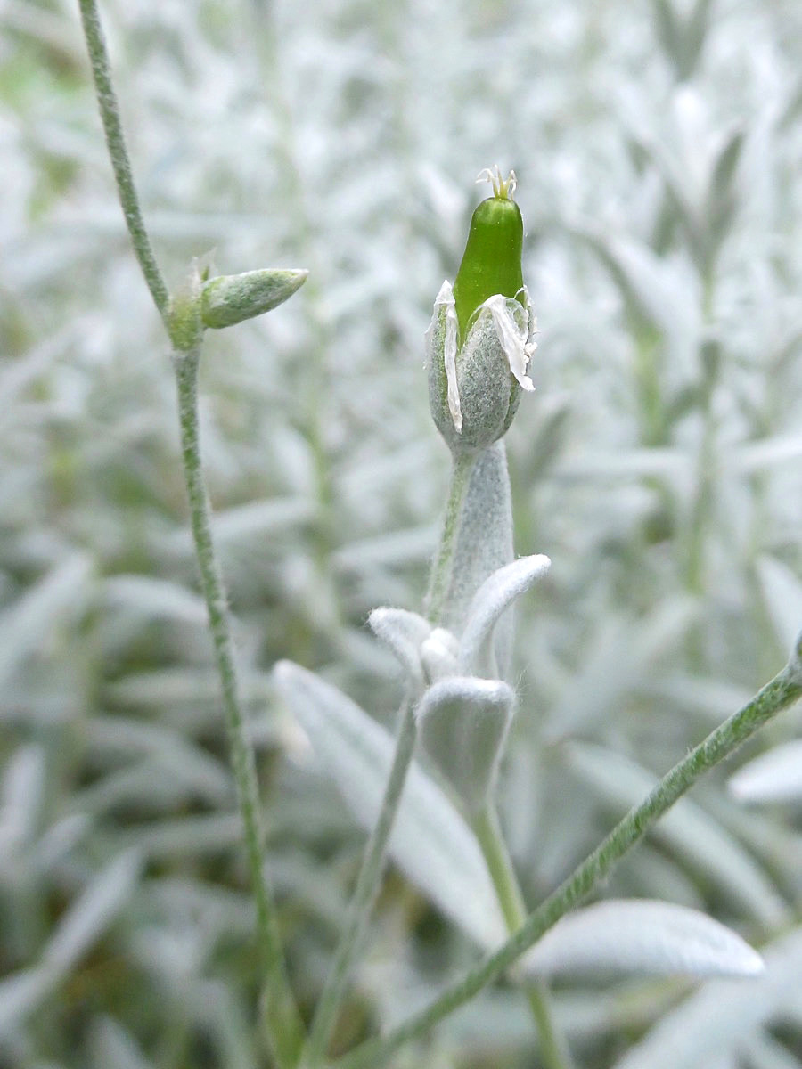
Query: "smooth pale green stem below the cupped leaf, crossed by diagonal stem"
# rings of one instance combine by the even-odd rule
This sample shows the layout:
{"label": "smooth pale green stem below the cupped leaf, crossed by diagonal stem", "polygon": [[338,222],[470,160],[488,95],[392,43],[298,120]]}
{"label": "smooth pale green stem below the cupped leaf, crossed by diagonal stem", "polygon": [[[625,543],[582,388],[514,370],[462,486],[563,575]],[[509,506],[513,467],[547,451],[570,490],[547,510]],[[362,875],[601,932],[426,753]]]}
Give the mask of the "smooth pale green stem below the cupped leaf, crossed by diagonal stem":
{"label": "smooth pale green stem below the cupped leaf, crossed by diagonal stem", "polygon": [[[498,826],[498,818],[490,803],[474,821],[474,832],[488,863],[507,930],[513,935],[526,920],[526,905],[512,858]],[[554,1021],[546,985],[527,980],[524,990],[540,1036],[540,1049],[546,1069],[573,1069],[571,1052]]]}

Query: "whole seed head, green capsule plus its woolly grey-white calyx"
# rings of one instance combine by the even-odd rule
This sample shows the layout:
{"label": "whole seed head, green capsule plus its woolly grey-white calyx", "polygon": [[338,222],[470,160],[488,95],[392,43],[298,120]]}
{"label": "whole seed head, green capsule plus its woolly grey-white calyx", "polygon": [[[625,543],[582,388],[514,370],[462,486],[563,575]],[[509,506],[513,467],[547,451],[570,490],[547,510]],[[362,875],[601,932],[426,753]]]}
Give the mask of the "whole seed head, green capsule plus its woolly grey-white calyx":
{"label": "whole seed head, green capsule plus its woolly grey-white calyx", "polygon": [[489,177],[493,197],[474,212],[453,288],[446,281],[427,330],[429,402],[452,452],[484,449],[506,433],[535,387],[526,371],[537,347],[535,316],[521,276],[523,222],[515,177]]}

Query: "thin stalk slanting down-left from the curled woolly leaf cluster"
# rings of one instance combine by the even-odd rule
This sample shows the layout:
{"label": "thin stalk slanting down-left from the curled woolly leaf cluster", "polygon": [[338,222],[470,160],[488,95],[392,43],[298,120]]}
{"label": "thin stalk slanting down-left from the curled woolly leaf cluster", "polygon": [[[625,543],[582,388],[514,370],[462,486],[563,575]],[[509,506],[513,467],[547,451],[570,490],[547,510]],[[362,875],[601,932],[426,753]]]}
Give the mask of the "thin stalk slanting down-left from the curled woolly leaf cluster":
{"label": "thin stalk slanting down-left from the curled woolly leaf cluster", "polygon": [[392,768],[384,790],[382,809],[373,831],[365,847],[361,867],[357,877],[354,895],[349,905],[345,928],[335,951],[334,962],[326,979],[323,993],[312,1019],[309,1040],[304,1051],[304,1065],[318,1066],[325,1056],[337,1023],[337,1013],[351,967],[359,951],[365,930],[379,893],[387,839],[401,801],[406,773],[412,762],[417,735],[415,725],[415,702],[407,696],[401,706],[400,728],[396,742]]}

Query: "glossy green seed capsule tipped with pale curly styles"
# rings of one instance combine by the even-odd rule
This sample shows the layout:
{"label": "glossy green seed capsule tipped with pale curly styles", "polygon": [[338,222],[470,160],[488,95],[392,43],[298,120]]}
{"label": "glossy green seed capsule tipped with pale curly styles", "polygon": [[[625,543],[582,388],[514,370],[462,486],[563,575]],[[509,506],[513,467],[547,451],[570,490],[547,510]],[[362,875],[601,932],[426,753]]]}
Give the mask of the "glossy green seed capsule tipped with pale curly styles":
{"label": "glossy green seed capsule tipped with pale curly styles", "polygon": [[488,297],[496,293],[518,297],[526,307],[521,292],[524,280],[521,273],[521,252],[524,242],[524,223],[521,211],[512,200],[515,175],[510,172],[505,182],[498,172],[483,171],[479,179],[493,183],[493,196],[483,200],[471,220],[467,245],[453,284],[460,342],[467,337],[474,312]]}

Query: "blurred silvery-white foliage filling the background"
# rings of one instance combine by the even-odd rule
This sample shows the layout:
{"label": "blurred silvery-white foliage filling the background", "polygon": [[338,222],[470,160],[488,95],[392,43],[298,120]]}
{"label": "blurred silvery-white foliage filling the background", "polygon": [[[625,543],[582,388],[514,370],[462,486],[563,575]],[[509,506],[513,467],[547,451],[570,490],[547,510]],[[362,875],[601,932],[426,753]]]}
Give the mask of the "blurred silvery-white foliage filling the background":
{"label": "blurred silvery-white foliage filling the background", "polygon": [[[211,249],[219,272],[311,270],[278,311],[210,334],[202,378],[308,1012],[363,835],[271,667],[292,657],[391,723],[398,680],[365,620],[420,605],[448,471],[422,332],[481,168],[519,175],[541,331],[508,444],[516,551],[553,568],[519,609],[500,785],[529,901],[785,661],[802,624],[802,7],[106,0],[102,16],[171,284]],[[250,1069],[267,1064],[252,915],[166,342],[77,11],[0,0],[0,1064]],[[800,808],[734,802],[731,769],[607,893],[768,946],[762,1001],[757,981],[562,983],[587,1069],[802,1065]],[[338,1049],[475,952],[390,870]],[[538,1065],[505,986],[397,1063]]]}

